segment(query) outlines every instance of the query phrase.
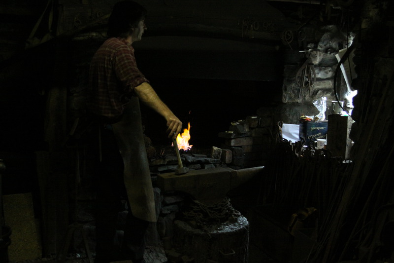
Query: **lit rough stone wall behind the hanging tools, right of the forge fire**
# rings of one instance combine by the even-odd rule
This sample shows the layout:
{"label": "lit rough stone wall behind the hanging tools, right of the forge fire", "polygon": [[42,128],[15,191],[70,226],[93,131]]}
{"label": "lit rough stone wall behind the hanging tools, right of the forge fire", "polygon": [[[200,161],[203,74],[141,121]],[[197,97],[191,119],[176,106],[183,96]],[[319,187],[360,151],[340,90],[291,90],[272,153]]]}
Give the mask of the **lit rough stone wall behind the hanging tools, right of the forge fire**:
{"label": "lit rough stone wall behind the hanging tools, right of the forge fire", "polygon": [[[282,86],[283,104],[275,109],[275,120],[297,124],[299,123],[299,117],[302,115],[314,116],[319,111],[313,105],[313,102],[322,97],[327,98],[327,119],[331,110],[331,101],[336,101],[333,87],[338,61],[335,55],[338,54],[339,50],[346,48],[348,44],[350,45],[353,38],[352,33],[346,35],[340,32],[336,26],[325,26],[319,32],[314,33],[312,39],[316,40],[306,43],[306,50],[289,48],[285,51]],[[301,85],[297,83],[296,75],[308,56],[310,64],[313,64],[310,67],[314,68],[316,78],[311,83],[310,89],[307,84],[306,87],[301,89]],[[337,79],[337,93],[340,93],[346,88],[346,83],[342,75],[338,76]]]}

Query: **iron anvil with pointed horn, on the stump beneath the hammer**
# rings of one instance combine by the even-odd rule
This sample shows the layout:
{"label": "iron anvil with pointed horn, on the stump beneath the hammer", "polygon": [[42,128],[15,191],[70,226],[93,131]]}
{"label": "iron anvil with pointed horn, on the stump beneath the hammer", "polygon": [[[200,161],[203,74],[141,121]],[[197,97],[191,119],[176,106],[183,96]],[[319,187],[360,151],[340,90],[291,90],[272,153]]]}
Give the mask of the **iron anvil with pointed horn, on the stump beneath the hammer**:
{"label": "iron anvil with pointed horn, on the stump beneath the hammer", "polygon": [[159,174],[158,187],[164,191],[181,191],[204,204],[215,204],[227,193],[263,171],[263,166],[234,170],[229,167],[190,170],[183,175]]}

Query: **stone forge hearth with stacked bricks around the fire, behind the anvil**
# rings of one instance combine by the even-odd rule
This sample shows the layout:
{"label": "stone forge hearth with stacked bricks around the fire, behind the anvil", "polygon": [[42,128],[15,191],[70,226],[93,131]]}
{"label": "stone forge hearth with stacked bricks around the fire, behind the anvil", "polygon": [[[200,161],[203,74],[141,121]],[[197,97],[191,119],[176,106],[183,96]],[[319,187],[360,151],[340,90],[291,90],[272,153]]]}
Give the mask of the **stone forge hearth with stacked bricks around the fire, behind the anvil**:
{"label": "stone forge hearth with stacked bricks around the fire, behind the anvil", "polygon": [[[179,150],[183,166],[191,170],[263,166],[274,144],[270,131],[273,123],[271,117],[265,117],[265,114],[267,111],[262,110],[257,115],[247,115],[244,120],[232,121],[228,129],[218,133],[214,145],[207,147],[203,142],[196,143],[197,140],[193,139],[191,149]],[[187,138],[190,138],[189,134]],[[170,142],[164,146],[153,145],[146,138],[146,148],[152,173],[166,173],[178,168],[175,150]]]}

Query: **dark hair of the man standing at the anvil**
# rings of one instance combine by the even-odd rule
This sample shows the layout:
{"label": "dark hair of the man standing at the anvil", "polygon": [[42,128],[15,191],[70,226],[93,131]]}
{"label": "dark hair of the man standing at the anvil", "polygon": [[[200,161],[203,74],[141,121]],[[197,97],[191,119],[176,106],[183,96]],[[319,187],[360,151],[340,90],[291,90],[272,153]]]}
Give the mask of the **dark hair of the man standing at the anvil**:
{"label": "dark hair of the man standing at the anvil", "polygon": [[115,3],[108,20],[108,37],[127,37],[146,15],[147,10],[134,1],[123,0]]}

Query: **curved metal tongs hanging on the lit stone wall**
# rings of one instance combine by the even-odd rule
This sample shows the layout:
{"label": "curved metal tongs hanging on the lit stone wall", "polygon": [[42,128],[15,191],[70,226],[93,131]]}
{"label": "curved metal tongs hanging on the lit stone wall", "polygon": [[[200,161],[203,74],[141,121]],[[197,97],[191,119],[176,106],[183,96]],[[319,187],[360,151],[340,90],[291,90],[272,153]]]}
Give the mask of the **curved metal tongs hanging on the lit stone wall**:
{"label": "curved metal tongs hanging on the lit stone wall", "polygon": [[300,52],[304,52],[305,61],[302,63],[300,69],[296,74],[296,82],[298,85],[300,85],[299,94],[298,94],[299,98],[302,97],[301,94],[303,93],[304,88],[306,86],[308,86],[309,97],[311,97],[311,87],[313,87],[316,81],[315,67],[313,66],[313,63],[310,60],[310,55],[312,51],[313,51],[312,49],[306,51],[300,51]]}

